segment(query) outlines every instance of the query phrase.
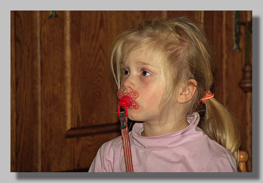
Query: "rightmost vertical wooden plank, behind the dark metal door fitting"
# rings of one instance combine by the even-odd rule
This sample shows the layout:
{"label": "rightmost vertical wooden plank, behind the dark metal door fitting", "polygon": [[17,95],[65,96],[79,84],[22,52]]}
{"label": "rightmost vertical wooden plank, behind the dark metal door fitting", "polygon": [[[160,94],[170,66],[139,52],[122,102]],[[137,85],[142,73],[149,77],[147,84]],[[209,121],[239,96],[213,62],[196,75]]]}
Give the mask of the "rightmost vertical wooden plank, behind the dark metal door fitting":
{"label": "rightmost vertical wooden plank, behind the dark metal door fitting", "polygon": [[[241,11],[241,21],[246,21],[247,12]],[[233,52],[233,11],[226,11],[226,47],[227,47],[227,67],[226,67],[226,106],[236,115],[238,121],[241,124],[242,133],[242,145],[241,149],[249,153],[249,160],[247,162],[247,170],[252,171],[252,149],[249,147],[252,144],[252,136],[248,135],[249,125],[252,125],[252,115],[251,120],[247,121],[247,105],[246,105],[246,93],[238,86],[238,83],[242,79],[242,68],[245,64],[245,28],[241,26],[241,36],[240,36],[240,52]],[[230,41],[231,40],[231,41]],[[234,58],[234,59],[233,59]]]}

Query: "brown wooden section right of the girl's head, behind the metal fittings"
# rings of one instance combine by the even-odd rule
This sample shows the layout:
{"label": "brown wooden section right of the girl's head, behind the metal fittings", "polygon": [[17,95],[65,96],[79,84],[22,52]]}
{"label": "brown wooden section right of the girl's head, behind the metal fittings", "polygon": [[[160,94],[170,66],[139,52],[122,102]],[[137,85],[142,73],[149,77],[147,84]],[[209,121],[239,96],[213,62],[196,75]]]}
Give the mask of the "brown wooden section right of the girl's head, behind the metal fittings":
{"label": "brown wooden section right of the girl's head, behind the metal fittings", "polygon": [[[251,12],[241,11],[241,21],[248,21],[251,19],[249,16]],[[212,90],[216,99],[230,109],[241,124],[243,138],[241,149],[249,153],[247,170],[252,171],[252,93],[246,94],[239,87],[245,63],[244,26],[241,26],[239,52],[232,50],[233,11],[204,11],[204,29],[217,51],[215,85]]]}

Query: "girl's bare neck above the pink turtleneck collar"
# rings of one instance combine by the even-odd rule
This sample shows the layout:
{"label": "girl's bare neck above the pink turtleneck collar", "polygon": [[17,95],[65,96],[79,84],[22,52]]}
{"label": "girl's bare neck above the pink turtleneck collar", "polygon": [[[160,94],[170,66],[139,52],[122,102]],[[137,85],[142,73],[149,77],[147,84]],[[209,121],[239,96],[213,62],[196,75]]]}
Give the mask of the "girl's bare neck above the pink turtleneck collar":
{"label": "girl's bare neck above the pink turtleneck collar", "polygon": [[166,121],[164,124],[154,124],[152,121],[144,121],[144,130],[142,131],[142,136],[144,137],[154,137],[159,135],[166,135],[176,131],[180,131],[189,126],[187,117],[182,118],[178,122]]}

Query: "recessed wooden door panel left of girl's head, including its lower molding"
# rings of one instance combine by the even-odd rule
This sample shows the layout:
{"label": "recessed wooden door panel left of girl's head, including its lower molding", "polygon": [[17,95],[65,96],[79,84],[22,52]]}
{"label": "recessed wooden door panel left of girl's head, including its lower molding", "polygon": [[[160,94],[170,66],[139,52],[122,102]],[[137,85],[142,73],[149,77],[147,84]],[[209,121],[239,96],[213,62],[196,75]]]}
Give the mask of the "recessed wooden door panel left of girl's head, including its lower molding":
{"label": "recessed wooden door panel left of girl's head, including its lower molding", "polygon": [[[118,131],[117,87],[109,68],[110,45],[117,35],[161,11],[72,11],[72,126],[67,136]],[[108,101],[108,102],[105,102]],[[113,124],[112,124],[113,123]]]}

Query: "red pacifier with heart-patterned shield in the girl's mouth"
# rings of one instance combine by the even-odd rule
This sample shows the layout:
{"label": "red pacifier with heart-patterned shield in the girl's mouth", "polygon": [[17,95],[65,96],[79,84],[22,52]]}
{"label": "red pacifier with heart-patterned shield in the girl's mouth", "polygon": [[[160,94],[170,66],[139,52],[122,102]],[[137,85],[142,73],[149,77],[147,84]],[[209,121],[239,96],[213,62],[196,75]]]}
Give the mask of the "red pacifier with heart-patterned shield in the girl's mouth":
{"label": "red pacifier with heart-patterned shield in the girl's mouth", "polygon": [[123,106],[125,110],[125,117],[128,116],[127,108],[138,109],[140,107],[139,104],[134,101],[139,97],[138,91],[133,90],[129,93],[118,91],[117,96],[119,99],[118,116],[120,115],[120,106]]}

